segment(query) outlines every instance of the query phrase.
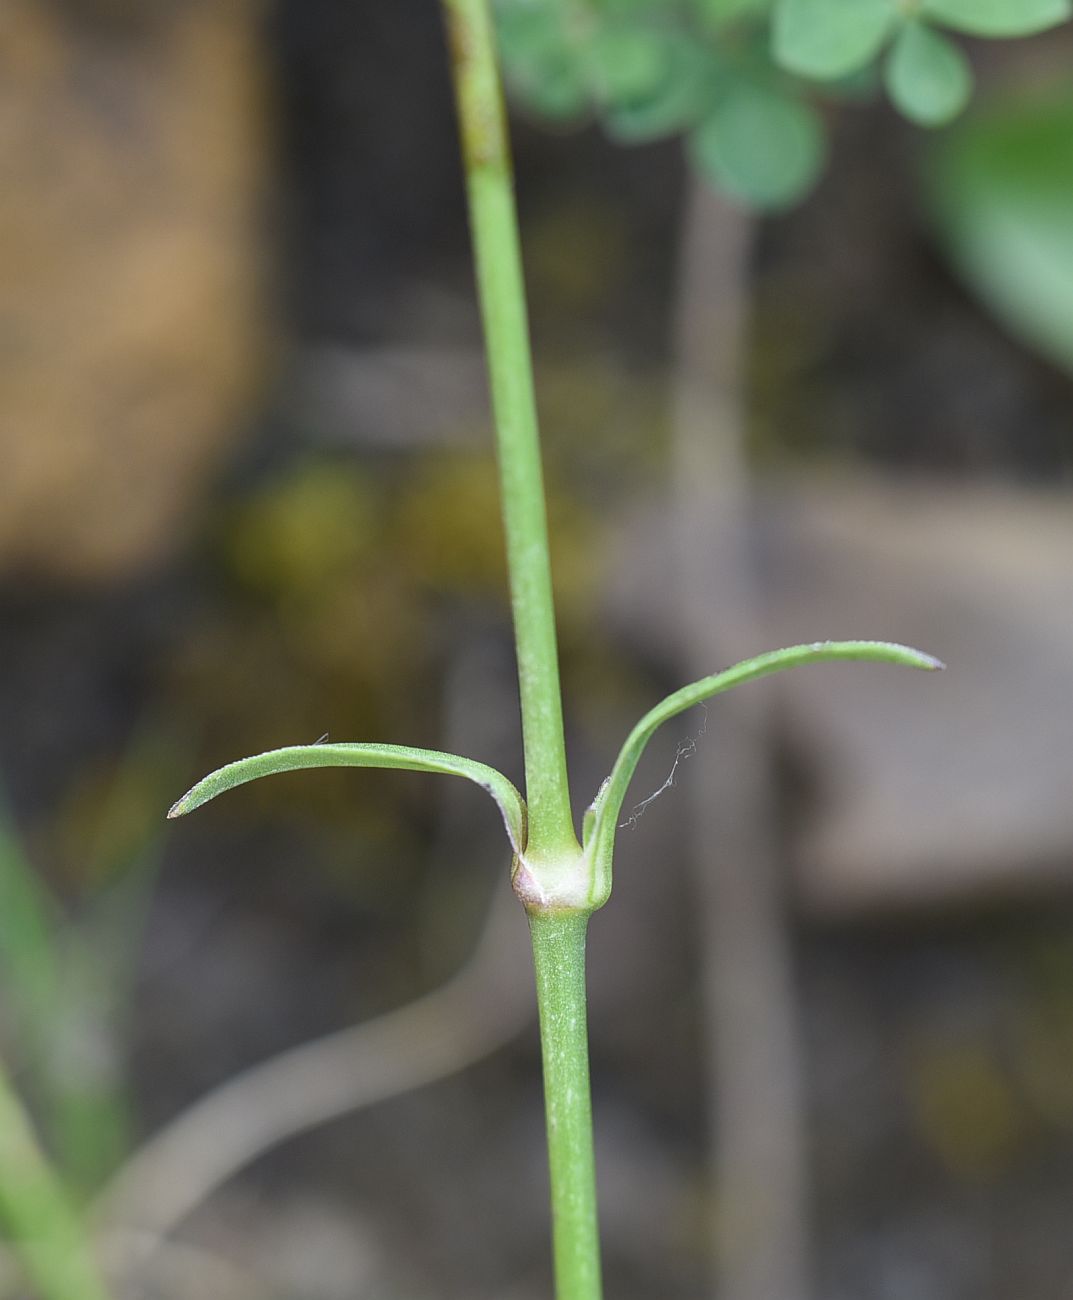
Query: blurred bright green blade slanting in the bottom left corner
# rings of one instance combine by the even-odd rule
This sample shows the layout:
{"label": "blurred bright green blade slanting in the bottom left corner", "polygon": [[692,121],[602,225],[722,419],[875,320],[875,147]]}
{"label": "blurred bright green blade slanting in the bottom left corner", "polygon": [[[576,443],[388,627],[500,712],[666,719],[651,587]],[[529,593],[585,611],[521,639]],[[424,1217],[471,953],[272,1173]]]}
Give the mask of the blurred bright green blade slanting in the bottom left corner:
{"label": "blurred bright green blade slanting in the bottom left corner", "polygon": [[90,1242],[1,1070],[0,1221],[40,1300],[108,1300]]}

